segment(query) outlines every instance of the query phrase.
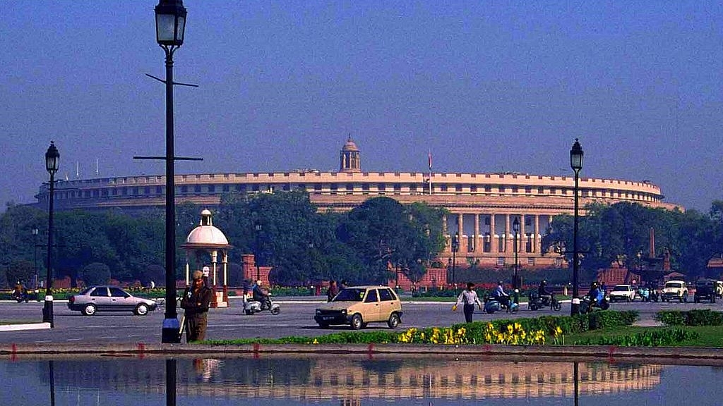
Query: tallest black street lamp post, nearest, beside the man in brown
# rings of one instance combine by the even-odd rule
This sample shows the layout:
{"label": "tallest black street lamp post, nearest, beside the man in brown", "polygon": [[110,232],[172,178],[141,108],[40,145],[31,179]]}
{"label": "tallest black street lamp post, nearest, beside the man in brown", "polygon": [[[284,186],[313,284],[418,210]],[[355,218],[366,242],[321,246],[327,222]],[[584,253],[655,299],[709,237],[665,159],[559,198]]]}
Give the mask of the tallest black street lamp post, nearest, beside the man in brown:
{"label": "tallest black street lamp post, nearest, beside the man in brown", "polygon": [[160,0],[155,34],[166,53],[166,314],[161,342],[181,342],[176,311],[176,191],[174,180],[174,52],[184,40],[186,9],[182,0]]}

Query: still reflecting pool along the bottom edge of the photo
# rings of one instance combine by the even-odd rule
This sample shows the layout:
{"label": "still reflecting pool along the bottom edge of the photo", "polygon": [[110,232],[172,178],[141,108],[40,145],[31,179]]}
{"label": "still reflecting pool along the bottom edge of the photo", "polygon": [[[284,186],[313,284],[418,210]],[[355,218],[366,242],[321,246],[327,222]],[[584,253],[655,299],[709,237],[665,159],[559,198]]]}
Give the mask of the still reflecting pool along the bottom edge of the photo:
{"label": "still reflecting pool along the bottom edge of the photo", "polygon": [[0,379],[0,405],[723,404],[719,367],[640,363],[58,358],[2,360]]}

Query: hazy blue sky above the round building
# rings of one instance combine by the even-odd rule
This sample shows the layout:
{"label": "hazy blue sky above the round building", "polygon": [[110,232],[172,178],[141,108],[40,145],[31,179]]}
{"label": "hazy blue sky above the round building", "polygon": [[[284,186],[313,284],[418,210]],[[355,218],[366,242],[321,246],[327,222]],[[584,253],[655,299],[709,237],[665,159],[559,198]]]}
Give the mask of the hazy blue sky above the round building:
{"label": "hazy blue sky above the round building", "polygon": [[[0,4],[0,210],[60,178],[163,175],[158,1]],[[723,199],[722,1],[184,0],[176,173],[338,170],[648,180]],[[98,165],[96,167],[96,161]],[[96,174],[97,168],[97,174]]]}

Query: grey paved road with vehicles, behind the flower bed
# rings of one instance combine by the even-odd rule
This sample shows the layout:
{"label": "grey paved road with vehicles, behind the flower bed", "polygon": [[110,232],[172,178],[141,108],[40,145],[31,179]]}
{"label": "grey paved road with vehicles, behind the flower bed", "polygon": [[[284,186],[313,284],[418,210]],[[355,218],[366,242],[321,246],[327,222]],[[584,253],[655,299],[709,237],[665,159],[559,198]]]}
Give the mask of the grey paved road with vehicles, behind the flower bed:
{"label": "grey paved road with vehicles, behind the flower bed", "polygon": [[[316,298],[279,298],[281,314],[272,316],[262,312],[246,316],[241,311],[241,301],[231,298],[228,308],[212,309],[208,318],[207,338],[234,339],[250,337],[314,337],[330,332],[349,331],[347,327],[319,329],[314,322],[315,307],[321,303]],[[39,322],[42,319],[43,303],[0,302],[0,320]],[[463,321],[461,311],[450,310],[451,303],[403,303],[403,324],[399,329],[408,327],[449,326]],[[476,320],[505,319],[510,317],[534,317],[543,314],[567,314],[569,304],[563,303],[562,311],[549,309],[528,311],[523,305],[515,315],[498,312],[496,314],[476,313]],[[619,310],[637,310],[641,314],[641,324],[652,324],[654,314],[666,309],[712,308],[723,310],[722,303],[614,303],[612,308]],[[163,308],[150,312],[147,316],[134,316],[130,313],[98,313],[83,316],[80,312],[69,311],[63,302],[54,307],[55,328],[17,332],[0,332],[0,342],[9,344],[58,343],[116,343],[116,342],[161,342]],[[368,330],[387,329],[386,324],[369,324]]]}

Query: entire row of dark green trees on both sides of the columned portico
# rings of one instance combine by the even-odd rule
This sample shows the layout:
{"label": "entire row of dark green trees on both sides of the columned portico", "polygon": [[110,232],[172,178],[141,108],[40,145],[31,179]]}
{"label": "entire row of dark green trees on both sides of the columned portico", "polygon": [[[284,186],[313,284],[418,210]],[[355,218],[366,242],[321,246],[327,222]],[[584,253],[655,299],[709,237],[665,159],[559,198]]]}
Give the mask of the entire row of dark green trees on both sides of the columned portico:
{"label": "entire row of dark green trees on both sides of the columned portico", "polygon": [[[199,225],[205,208],[176,207],[177,246]],[[225,194],[215,207],[213,222],[234,246],[229,251],[230,285],[241,285],[243,254],[256,254],[260,265],[273,267],[271,279],[283,285],[330,279],[384,283],[390,277],[388,264],[411,280],[424,275],[444,248],[445,212],[424,203],[403,205],[384,196],[348,212],[320,212],[308,194],[289,191]],[[45,279],[47,223],[46,211],[8,204],[0,216],[0,286],[33,280],[36,264],[40,280]],[[38,236],[31,233],[33,228],[38,228]],[[132,213],[61,211],[56,212],[54,228],[55,278],[82,279],[86,284],[114,278],[148,285],[153,280],[163,285],[163,208]],[[709,213],[623,202],[591,204],[580,217],[582,280],[594,279],[598,269],[611,264],[659,272],[659,263],[647,258],[651,229],[657,256],[668,252],[672,270],[690,279],[719,276],[711,275],[706,265],[722,252],[723,202],[713,202]],[[565,255],[571,266],[573,217],[556,216],[542,247],[546,255]],[[179,250],[177,255],[176,277],[181,279],[185,253]],[[641,264],[643,259],[647,266]],[[484,270],[484,275],[500,272],[476,269],[474,264],[467,268],[476,273]],[[474,280],[473,276],[469,275]]]}

